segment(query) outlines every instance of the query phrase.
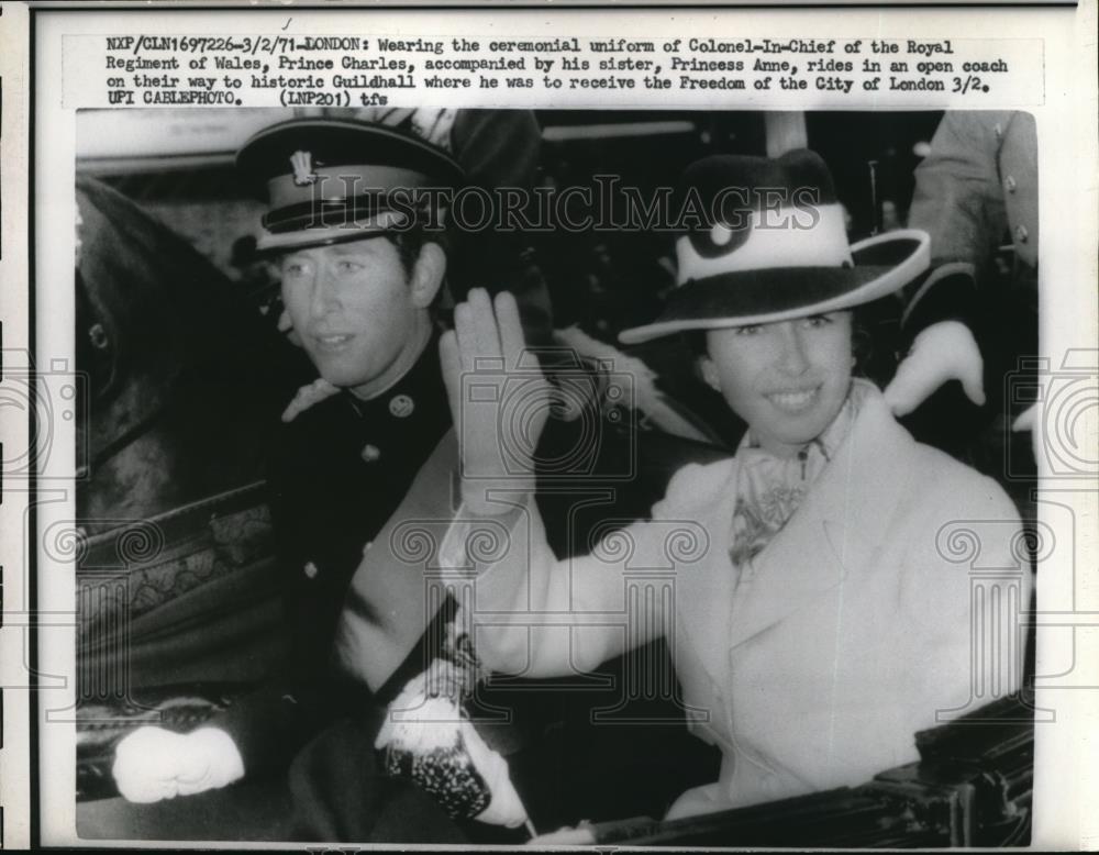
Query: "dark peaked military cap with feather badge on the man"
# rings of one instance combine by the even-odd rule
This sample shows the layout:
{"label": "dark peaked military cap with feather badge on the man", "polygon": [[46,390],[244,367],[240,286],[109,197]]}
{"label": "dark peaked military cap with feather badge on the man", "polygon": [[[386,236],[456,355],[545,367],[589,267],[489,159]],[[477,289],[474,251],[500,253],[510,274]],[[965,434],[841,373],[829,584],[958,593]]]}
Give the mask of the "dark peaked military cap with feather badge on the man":
{"label": "dark peaked military cap with feather badge on the man", "polygon": [[454,113],[322,115],[256,133],[236,155],[245,181],[269,203],[256,249],[286,252],[408,229],[424,206],[444,198],[426,188],[466,180],[446,148]]}

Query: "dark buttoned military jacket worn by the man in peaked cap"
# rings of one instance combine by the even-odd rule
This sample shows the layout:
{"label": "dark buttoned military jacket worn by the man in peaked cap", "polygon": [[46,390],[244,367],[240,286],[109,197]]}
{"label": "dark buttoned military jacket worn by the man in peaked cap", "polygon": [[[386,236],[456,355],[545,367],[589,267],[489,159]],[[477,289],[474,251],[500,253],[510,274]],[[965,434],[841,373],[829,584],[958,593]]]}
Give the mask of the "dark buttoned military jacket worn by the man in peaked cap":
{"label": "dark buttoned military jacket worn by the man in peaked cap", "polygon": [[364,549],[449,430],[435,345],[377,398],[341,392],[279,433],[269,481],[287,655],[260,689],[212,722],[232,735],[248,775],[285,765],[360,692],[332,667],[332,637]]}

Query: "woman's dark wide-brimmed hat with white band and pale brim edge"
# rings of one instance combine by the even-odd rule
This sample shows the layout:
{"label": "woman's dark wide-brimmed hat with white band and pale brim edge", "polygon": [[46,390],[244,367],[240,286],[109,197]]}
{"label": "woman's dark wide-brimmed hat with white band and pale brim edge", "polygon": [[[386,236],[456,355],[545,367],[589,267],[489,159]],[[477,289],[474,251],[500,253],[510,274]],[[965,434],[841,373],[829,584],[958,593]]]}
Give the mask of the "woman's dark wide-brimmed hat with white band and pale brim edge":
{"label": "woman's dark wide-brimmed hat with white band and pale brim edge", "polygon": [[676,198],[677,288],[659,318],[619,335],[624,344],[850,309],[897,291],[930,263],[918,230],[848,245],[814,152],[708,157],[687,168]]}

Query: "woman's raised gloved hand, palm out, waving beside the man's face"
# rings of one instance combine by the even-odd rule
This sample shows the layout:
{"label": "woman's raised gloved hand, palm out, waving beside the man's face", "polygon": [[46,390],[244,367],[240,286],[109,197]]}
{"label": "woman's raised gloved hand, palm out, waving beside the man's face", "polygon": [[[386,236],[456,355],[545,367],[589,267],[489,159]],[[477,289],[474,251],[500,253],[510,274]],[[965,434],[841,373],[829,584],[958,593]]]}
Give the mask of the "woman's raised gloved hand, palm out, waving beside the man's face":
{"label": "woman's raised gloved hand, palm out, waving beside the man's face", "polygon": [[534,490],[535,449],[552,400],[526,349],[515,298],[503,291],[493,301],[471,289],[440,341],[440,358],[462,454],[463,501],[475,514],[506,513]]}

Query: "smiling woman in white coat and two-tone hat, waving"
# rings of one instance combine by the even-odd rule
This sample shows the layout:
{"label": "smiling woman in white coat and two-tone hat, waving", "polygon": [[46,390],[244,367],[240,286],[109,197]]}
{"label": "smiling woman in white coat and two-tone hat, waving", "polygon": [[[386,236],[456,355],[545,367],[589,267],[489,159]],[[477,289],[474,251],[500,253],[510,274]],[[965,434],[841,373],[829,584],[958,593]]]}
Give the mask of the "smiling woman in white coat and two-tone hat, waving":
{"label": "smiling woman in white coat and two-tone hat, waving", "polygon": [[708,158],[684,187],[707,218],[678,237],[679,288],[621,337],[701,331],[703,376],[748,431],[735,456],[677,473],[652,521],[557,562],[515,454],[545,417],[514,302],[473,292],[442,343],[466,520],[443,556],[468,588],[477,654],[493,671],[567,675],[664,634],[691,726],[723,754],[720,779],[671,817],[917,759],[917,731],[1018,687],[1030,586],[1003,491],[915,443],[852,377],[851,310],[921,273],[926,235],[848,246],[809,152]]}

